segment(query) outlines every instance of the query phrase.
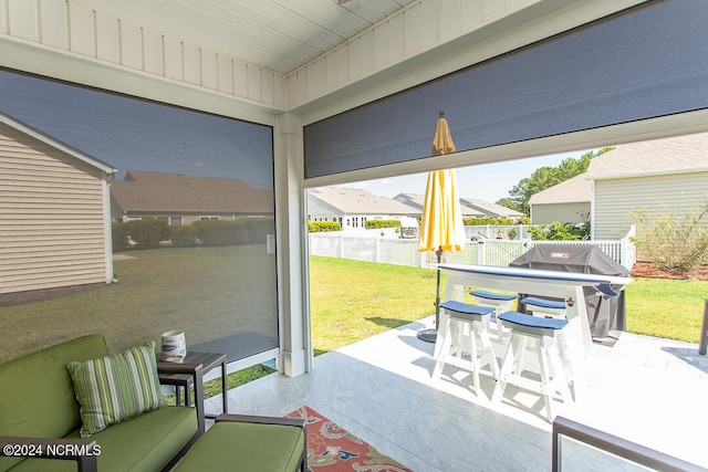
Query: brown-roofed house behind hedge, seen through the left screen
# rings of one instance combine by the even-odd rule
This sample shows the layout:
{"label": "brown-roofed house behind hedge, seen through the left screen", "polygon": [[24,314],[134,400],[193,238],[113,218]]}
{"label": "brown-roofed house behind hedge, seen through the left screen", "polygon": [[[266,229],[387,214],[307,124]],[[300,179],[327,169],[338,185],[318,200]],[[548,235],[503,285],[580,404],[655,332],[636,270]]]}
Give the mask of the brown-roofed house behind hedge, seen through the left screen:
{"label": "brown-roofed house behind hedge, seen through the left screen", "polygon": [[272,190],[241,180],[131,170],[111,185],[115,221],[165,219],[171,224],[273,216]]}

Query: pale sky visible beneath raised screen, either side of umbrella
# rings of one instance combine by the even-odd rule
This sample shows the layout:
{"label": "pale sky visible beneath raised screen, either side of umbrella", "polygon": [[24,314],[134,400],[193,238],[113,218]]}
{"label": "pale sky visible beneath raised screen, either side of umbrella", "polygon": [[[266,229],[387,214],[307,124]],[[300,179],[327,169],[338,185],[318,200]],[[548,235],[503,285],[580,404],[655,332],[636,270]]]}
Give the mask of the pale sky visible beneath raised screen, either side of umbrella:
{"label": "pale sky visible beneath raised screen, either side of umbrella", "polygon": [[[458,168],[456,176],[459,195],[494,202],[509,197],[509,190],[519,183],[519,180],[530,177],[539,167],[556,167],[564,159],[569,157],[577,159],[589,150]],[[398,193],[425,193],[426,179],[427,172],[423,172],[352,182],[339,187],[364,189],[381,197],[393,198]]]}

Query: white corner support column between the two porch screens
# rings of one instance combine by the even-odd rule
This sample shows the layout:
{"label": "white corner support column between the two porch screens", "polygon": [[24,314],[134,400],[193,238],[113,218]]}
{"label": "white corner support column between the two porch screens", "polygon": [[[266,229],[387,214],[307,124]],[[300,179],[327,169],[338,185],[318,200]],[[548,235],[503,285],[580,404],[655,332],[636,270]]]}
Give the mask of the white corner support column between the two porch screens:
{"label": "white corner support column between the two porch screens", "polygon": [[273,134],[281,371],[295,377],[312,368],[300,116],[280,115]]}

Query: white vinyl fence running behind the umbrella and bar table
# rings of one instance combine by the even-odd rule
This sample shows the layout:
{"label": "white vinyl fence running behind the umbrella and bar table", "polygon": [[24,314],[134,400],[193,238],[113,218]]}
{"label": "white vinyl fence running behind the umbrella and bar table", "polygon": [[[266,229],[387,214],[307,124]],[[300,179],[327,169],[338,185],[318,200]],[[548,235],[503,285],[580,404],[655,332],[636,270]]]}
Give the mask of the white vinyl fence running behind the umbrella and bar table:
{"label": "white vinyl fence running behind the umbrella and bar table", "polygon": [[[531,241],[485,239],[465,243],[461,251],[445,252],[442,262],[456,264],[509,265],[537,244],[597,245],[605,254],[627,269],[636,261],[631,231],[621,240],[594,241]],[[346,234],[343,232],[309,233],[310,254],[358,261],[425,268],[436,262],[435,253],[418,252],[417,239],[385,238],[377,234]]]}

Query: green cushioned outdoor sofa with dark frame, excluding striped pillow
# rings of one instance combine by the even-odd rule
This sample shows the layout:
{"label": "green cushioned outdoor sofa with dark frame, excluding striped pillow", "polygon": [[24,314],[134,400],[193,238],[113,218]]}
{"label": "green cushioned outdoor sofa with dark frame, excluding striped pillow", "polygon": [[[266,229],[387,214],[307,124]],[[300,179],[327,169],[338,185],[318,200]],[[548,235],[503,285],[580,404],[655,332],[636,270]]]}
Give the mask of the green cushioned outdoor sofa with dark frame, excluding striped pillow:
{"label": "green cushioned outdoor sofa with dark frame, excluding striped pillow", "polygon": [[[202,398],[194,408],[157,408],[81,438],[67,364],[107,354],[103,336],[87,335],[0,365],[0,471],[154,472],[169,470],[189,450],[205,429]],[[201,366],[170,369],[201,386]],[[52,453],[60,460],[46,458]]]}

